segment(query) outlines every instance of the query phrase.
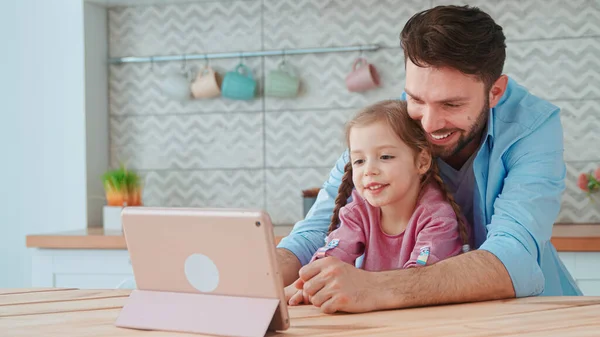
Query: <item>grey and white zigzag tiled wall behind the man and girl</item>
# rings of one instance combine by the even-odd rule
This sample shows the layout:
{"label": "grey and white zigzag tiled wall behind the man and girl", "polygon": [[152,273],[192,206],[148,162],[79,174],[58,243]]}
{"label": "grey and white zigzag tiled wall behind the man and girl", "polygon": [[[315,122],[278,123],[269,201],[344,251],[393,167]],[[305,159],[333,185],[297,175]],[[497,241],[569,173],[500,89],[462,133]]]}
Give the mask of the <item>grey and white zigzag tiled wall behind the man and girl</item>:
{"label": "grey and white zigzag tiled wall behind the man and girl", "polygon": [[[146,205],[261,207],[277,224],[302,216],[301,190],[320,186],[356,110],[402,92],[399,33],[415,12],[447,1],[238,0],[109,10],[110,56],[253,51],[377,43],[366,52],[383,87],[348,93],[359,53],[287,56],[301,96],[177,102],[163,76],[182,62],[110,65],[111,163],[145,176]],[[456,3],[456,2],[452,2]],[[567,191],[560,221],[599,221],[576,176],[600,164],[600,1],[468,1],[505,29],[505,72],[563,108]],[[259,83],[279,57],[246,58]],[[211,60],[220,71],[240,60]],[[188,61],[200,68],[204,61]]]}

